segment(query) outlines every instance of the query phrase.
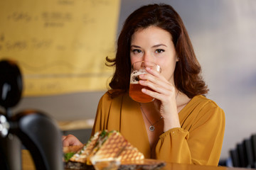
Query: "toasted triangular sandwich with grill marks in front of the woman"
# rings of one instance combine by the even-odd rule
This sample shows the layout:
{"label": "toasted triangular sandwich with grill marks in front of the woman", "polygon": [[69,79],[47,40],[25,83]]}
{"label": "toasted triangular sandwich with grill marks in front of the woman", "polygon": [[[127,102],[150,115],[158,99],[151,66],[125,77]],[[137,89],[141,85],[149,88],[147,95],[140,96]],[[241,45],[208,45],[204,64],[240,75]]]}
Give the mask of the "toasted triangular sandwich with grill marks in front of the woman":
{"label": "toasted triangular sandwich with grill marks in front of the woman", "polygon": [[139,159],[144,159],[144,155],[124,139],[120,132],[103,130],[96,132],[68,161],[92,165],[92,162],[97,161]]}

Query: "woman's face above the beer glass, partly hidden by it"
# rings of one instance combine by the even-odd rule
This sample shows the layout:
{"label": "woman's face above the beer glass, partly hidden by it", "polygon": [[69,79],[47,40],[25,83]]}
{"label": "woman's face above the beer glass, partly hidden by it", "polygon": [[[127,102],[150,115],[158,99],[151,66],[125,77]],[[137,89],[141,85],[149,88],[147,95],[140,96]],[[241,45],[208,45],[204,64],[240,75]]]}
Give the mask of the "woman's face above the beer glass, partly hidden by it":
{"label": "woman's face above the beer glass, partly hidden by it", "polygon": [[156,26],[139,29],[132,35],[130,48],[131,63],[155,62],[161,74],[174,84],[174,69],[178,58],[171,34]]}

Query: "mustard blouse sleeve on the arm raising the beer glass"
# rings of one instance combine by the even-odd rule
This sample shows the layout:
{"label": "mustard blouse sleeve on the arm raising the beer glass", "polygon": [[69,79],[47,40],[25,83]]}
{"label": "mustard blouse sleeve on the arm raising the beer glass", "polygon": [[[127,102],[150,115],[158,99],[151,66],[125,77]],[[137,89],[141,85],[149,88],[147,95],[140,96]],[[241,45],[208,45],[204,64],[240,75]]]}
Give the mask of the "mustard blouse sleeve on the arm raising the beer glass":
{"label": "mustard blouse sleeve on the arm raising the beer glass", "polygon": [[173,128],[164,132],[156,143],[156,159],[183,164],[217,166],[225,129],[221,108],[206,105],[198,111],[187,130]]}

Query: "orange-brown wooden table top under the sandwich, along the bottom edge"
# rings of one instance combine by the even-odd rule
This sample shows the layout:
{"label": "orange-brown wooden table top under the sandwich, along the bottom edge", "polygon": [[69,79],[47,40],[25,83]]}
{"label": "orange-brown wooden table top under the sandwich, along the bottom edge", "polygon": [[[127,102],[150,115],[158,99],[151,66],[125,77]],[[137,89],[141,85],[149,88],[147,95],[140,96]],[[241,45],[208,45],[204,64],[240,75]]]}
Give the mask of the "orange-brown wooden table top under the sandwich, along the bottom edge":
{"label": "orange-brown wooden table top under the sandwich, along the bottom edge", "polygon": [[[24,170],[36,170],[31,154],[28,150],[22,150],[22,169]],[[242,168],[230,168],[225,166],[201,166],[191,164],[174,164],[166,163],[166,166],[159,170],[248,170]]]}

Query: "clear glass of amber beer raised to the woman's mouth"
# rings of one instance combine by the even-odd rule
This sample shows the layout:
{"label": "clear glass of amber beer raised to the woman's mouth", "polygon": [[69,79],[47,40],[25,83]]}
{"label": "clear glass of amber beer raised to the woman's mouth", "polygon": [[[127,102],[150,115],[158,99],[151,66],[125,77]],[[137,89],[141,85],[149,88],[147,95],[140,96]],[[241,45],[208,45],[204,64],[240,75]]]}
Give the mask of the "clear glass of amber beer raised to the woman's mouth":
{"label": "clear glass of amber beer raised to the woman's mouth", "polygon": [[132,71],[131,71],[131,78],[130,78],[130,85],[129,85],[129,96],[134,101],[138,101],[140,103],[148,103],[148,102],[154,101],[154,98],[142,93],[142,89],[149,89],[151,91],[154,91],[154,90],[139,84],[139,75],[146,74],[146,67],[150,67],[152,69],[155,69],[157,72],[161,72],[160,66],[155,64],[154,62],[140,61],[140,62],[134,62],[134,64],[132,64]]}

